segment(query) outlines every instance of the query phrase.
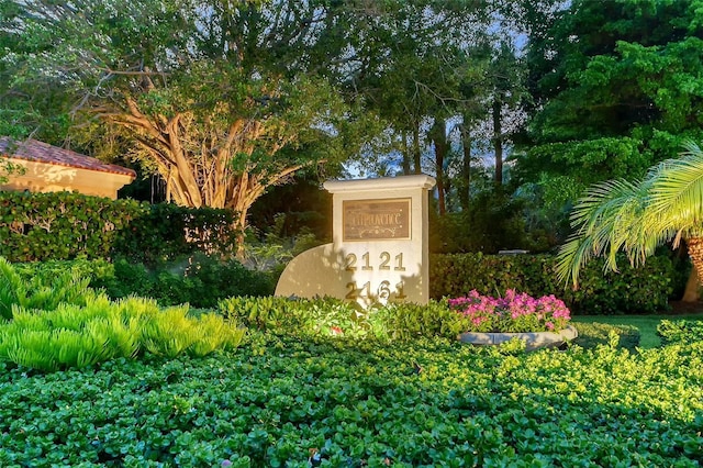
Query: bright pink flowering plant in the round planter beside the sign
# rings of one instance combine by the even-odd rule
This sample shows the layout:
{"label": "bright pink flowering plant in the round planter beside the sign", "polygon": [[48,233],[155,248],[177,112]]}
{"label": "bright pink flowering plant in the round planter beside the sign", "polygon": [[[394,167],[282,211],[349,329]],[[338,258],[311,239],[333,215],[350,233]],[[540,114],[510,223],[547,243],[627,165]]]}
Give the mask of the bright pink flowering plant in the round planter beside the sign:
{"label": "bright pink flowering plant in the round planter beside the sign", "polygon": [[559,332],[571,320],[563,301],[554,296],[535,299],[514,289],[505,291],[502,298],[472,290],[464,298],[449,299],[448,303],[451,310],[469,319],[467,332]]}

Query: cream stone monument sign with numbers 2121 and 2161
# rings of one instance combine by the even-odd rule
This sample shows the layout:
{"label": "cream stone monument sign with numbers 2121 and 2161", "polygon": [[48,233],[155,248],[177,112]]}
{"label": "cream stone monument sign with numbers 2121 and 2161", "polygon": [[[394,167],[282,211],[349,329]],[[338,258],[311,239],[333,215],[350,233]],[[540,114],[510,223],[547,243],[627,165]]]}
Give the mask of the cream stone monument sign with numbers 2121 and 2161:
{"label": "cream stone monument sign with numbers 2121 and 2161", "polygon": [[333,180],[333,242],[303,252],[286,267],[276,296],[331,296],[368,308],[427,303],[425,175]]}

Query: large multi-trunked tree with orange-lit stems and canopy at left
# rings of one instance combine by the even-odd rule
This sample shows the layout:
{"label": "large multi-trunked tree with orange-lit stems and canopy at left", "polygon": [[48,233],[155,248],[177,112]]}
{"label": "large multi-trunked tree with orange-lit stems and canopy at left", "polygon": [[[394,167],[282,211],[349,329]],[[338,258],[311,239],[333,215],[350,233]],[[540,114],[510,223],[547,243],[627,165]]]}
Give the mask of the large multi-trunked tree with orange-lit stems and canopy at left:
{"label": "large multi-trunked tree with orange-lit stems and canopy at left", "polygon": [[[60,91],[66,105],[59,109],[77,118],[77,134],[98,136],[97,151],[115,142],[127,149],[160,174],[168,199],[231,208],[244,227],[267,187],[356,149],[348,132],[346,147],[333,137],[352,126],[353,108],[326,80],[279,62],[292,42],[303,51],[309,38],[304,22],[293,27],[295,3],[270,7],[169,0],[4,5],[3,37],[15,51],[5,69],[13,71],[13,92]],[[291,18],[281,20],[284,14]]]}

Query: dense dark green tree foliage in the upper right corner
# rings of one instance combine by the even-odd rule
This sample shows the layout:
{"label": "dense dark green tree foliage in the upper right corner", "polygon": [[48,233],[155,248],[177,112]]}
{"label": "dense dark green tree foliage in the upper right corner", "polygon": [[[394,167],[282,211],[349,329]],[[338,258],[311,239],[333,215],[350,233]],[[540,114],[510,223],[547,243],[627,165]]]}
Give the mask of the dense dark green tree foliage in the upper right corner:
{"label": "dense dark green tree foliage in the upper right corner", "polygon": [[[576,0],[529,37],[534,115],[520,160],[584,187],[641,177],[703,135],[696,1]],[[531,176],[534,177],[534,176]]]}

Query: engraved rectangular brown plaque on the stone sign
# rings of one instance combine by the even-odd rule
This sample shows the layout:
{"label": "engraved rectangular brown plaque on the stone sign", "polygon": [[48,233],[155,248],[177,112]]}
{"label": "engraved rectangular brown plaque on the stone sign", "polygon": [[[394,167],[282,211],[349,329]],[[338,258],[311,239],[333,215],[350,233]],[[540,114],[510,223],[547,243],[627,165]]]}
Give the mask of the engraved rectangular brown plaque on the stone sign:
{"label": "engraved rectangular brown plaque on the stone sign", "polygon": [[344,201],[344,241],[409,239],[410,200],[405,198]]}

